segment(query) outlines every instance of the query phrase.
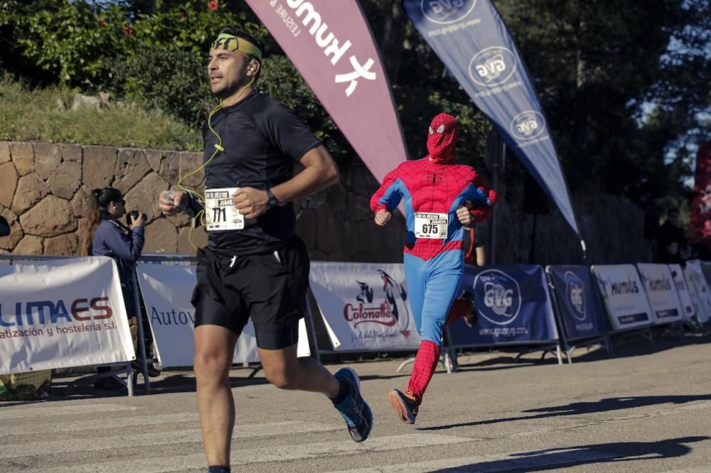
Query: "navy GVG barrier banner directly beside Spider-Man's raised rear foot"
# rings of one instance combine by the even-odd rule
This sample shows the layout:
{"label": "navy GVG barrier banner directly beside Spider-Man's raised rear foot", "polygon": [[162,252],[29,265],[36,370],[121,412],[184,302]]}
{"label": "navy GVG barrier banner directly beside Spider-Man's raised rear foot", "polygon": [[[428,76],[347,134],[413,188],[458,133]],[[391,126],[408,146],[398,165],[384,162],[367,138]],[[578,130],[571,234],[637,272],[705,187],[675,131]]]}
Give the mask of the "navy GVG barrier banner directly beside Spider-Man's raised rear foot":
{"label": "navy GVG barrier banner directly beside Spider-Man's raised rear foot", "polygon": [[535,265],[466,266],[464,285],[473,288],[479,317],[474,328],[456,320],[454,347],[558,339],[543,268]]}

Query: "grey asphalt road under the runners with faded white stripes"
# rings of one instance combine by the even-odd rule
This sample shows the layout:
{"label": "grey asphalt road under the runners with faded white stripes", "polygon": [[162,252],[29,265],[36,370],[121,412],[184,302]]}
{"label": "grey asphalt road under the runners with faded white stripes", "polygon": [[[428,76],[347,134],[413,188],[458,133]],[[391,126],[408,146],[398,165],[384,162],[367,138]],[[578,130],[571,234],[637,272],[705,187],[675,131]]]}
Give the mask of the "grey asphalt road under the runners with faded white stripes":
{"label": "grey asphalt road under the runners with faded white stripes", "polygon": [[[461,356],[459,372],[434,375],[415,425],[385,398],[407,385],[402,359],[352,363],[375,415],[362,444],[323,396],[235,369],[232,471],[711,472],[711,337],[575,355],[562,366],[540,353]],[[205,471],[192,373],[152,381],[150,396],[139,386],[128,398],[56,377],[46,401],[0,403],[0,471]]]}

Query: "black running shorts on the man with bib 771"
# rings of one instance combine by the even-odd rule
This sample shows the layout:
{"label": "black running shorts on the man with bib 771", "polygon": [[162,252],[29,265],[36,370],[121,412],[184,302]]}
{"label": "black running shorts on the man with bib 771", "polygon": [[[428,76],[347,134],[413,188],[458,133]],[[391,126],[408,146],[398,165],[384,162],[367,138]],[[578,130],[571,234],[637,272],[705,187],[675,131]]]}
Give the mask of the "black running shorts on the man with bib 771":
{"label": "black running shorts on the man with bib 771", "polygon": [[296,344],[309,287],[309,253],[301,239],[268,254],[223,256],[200,249],[197,277],[196,327],[220,325],[239,336],[252,317],[257,347]]}

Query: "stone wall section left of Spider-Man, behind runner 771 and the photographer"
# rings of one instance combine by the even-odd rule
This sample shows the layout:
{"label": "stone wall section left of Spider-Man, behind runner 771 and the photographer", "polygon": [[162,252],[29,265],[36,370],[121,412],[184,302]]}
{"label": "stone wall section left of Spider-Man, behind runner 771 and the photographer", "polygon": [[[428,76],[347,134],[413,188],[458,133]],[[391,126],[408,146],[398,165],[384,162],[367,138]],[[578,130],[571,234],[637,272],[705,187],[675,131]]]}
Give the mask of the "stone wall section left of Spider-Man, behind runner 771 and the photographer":
{"label": "stone wall section left of Spider-Man, behind runner 771 and the photographer", "polygon": [[[97,187],[116,187],[127,210],[148,215],[144,252],[195,254],[186,216],[159,216],[161,190],[199,167],[202,153],[107,146],[0,141],[0,214],[11,227],[0,238],[0,252],[73,255],[87,195]],[[184,184],[198,185],[203,172]],[[296,202],[297,232],[311,258],[321,261],[402,261],[402,220],[377,227],[368,200],[377,183],[363,165],[341,171],[341,183]],[[207,241],[192,231],[193,244]]]}

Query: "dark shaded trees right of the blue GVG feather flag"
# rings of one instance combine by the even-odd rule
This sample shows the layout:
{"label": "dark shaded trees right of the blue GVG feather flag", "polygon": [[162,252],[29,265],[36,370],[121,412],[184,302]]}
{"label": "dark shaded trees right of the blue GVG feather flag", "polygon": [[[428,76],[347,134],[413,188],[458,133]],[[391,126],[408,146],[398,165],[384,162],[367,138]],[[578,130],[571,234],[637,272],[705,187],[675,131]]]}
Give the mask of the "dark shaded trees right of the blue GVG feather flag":
{"label": "dark shaded trees right of the blue GVG feather flag", "polygon": [[697,113],[711,111],[710,2],[496,5],[535,81],[570,187],[624,195],[648,210],[687,197],[691,168],[680,140],[703,141]]}

